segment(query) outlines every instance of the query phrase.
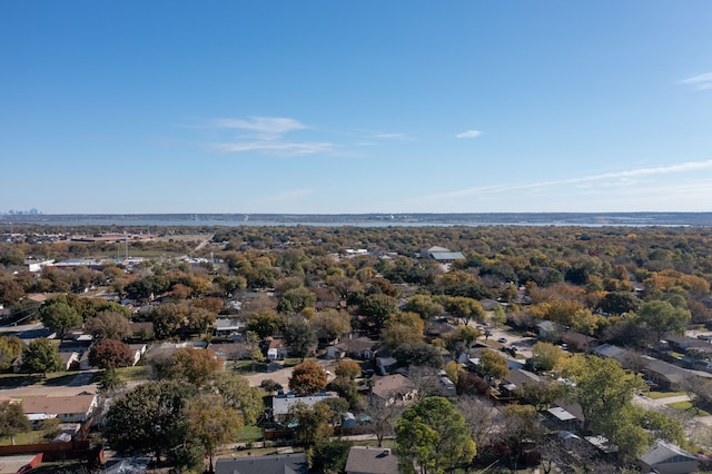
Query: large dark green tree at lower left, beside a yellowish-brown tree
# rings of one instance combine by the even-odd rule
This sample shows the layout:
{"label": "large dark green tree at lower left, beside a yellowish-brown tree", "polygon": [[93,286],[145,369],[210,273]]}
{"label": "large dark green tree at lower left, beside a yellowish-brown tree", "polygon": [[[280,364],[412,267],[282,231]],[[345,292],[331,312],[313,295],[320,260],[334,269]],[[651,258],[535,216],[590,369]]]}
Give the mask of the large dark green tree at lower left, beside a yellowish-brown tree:
{"label": "large dark green tree at lower left, beside a yellowish-brown tree", "polygon": [[156,458],[174,447],[175,433],[182,429],[184,409],[196,394],[182,382],[148,382],[113,399],[103,435],[120,453],[152,451]]}

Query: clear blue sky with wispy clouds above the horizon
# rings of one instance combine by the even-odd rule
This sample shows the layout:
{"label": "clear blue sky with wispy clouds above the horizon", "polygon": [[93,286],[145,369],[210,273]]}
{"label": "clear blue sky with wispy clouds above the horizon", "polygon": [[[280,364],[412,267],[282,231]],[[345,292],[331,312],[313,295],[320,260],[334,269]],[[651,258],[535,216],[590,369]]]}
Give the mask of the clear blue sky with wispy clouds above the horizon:
{"label": "clear blue sky with wispy clouds above the horizon", "polygon": [[0,2],[0,211],[712,211],[712,2]]}

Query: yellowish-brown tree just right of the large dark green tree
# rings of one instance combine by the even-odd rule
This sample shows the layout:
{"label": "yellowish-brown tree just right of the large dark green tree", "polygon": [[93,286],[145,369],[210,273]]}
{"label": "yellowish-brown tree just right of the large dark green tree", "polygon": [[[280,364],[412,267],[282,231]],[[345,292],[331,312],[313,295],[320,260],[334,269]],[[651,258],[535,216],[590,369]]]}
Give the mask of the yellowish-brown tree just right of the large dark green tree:
{"label": "yellowish-brown tree just right of the large dark green tree", "polygon": [[209,460],[208,472],[212,473],[212,457],[216,450],[237,441],[237,434],[244,425],[243,417],[216,394],[200,394],[188,403],[188,427],[198,440]]}

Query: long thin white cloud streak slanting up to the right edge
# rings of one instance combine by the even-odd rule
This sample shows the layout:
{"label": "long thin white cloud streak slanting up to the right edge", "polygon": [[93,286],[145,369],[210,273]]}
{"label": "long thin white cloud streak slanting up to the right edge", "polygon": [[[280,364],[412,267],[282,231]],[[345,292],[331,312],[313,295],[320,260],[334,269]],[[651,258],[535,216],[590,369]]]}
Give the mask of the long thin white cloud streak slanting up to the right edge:
{"label": "long thin white cloud streak slanting up to the right edge", "polygon": [[613,181],[617,181],[619,184],[623,182],[623,184],[630,185],[631,182],[634,181],[634,178],[636,177],[652,176],[652,175],[669,175],[674,172],[694,171],[694,170],[708,169],[708,168],[712,168],[712,160],[689,161],[680,165],[660,166],[660,167],[653,167],[653,168],[637,168],[637,169],[630,169],[625,171],[604,172],[601,175],[581,176],[575,178],[556,179],[556,180],[548,180],[548,181],[483,186],[478,188],[461,189],[456,191],[427,196],[425,197],[425,199],[447,199],[447,198],[456,198],[456,197],[464,197],[464,196],[506,192],[511,190],[522,190],[522,189],[535,190],[541,188],[565,186],[565,185],[584,187],[587,184],[591,184],[594,181],[606,181],[609,184]]}

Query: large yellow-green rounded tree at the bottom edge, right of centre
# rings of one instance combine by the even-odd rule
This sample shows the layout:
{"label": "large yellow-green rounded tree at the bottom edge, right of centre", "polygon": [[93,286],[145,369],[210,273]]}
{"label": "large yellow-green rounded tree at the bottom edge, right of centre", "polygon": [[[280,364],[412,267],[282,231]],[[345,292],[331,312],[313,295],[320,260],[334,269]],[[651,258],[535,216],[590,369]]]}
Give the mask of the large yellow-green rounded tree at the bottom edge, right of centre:
{"label": "large yellow-green rounded tree at the bottom edge, right of centre", "polygon": [[469,427],[443,397],[427,397],[403,412],[396,423],[396,452],[406,465],[415,461],[422,474],[453,472],[476,454]]}

